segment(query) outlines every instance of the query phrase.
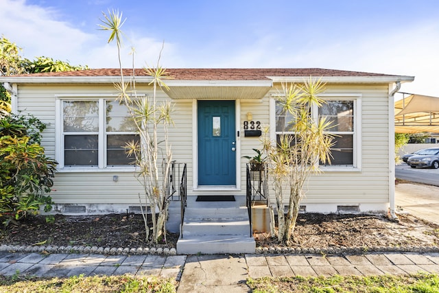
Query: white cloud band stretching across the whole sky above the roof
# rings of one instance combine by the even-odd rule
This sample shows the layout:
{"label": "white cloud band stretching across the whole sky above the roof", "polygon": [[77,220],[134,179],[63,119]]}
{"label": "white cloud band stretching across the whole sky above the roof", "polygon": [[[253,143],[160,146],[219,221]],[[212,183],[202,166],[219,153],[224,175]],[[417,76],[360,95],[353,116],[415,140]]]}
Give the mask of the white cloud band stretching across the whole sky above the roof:
{"label": "white cloud band stretching across the whole sky above the roof", "polygon": [[[115,44],[108,45],[108,34],[96,30],[97,26],[67,23],[62,21],[60,12],[28,5],[25,0],[0,0],[0,7],[0,34],[23,47],[26,58],[48,56],[92,68],[119,66]],[[215,38],[213,43],[200,43],[188,36],[184,44],[166,40],[162,65],[322,67],[415,75],[415,82],[403,85],[404,91],[439,96],[435,86],[439,67],[439,23],[423,21],[412,21],[411,26],[401,21],[401,24],[376,31],[366,28],[364,32],[338,31],[335,36],[316,32],[312,38],[306,32],[303,36],[300,31],[289,32],[287,27],[285,32],[281,28],[272,32],[257,27],[252,38],[245,38],[242,43],[237,38]],[[137,52],[136,67],[143,67],[145,62],[154,65],[162,40],[130,32],[129,19],[125,29],[129,38],[121,52],[123,66],[132,66],[131,45]]]}

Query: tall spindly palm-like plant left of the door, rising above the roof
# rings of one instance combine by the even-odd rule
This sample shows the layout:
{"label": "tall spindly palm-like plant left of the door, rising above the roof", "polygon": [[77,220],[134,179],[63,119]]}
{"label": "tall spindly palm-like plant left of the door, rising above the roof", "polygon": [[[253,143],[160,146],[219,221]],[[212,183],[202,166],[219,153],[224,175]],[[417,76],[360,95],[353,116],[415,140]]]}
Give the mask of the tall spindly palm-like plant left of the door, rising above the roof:
{"label": "tall spindly palm-like plant left of the door, rising above the roof", "polygon": [[[144,68],[147,75],[152,78],[150,85],[152,85],[153,93],[152,96],[139,97],[136,91],[134,68],[129,82],[125,82],[123,78],[121,26],[125,21],[122,20],[122,13],[119,11],[113,10],[108,14],[104,14],[103,24],[100,27],[110,32],[108,43],[116,40],[121,80],[115,84],[115,88],[119,92],[119,102],[128,107],[141,138],[140,143],[128,143],[126,149],[129,155],[134,155],[134,163],[139,168],[136,177],[143,186],[143,195],[139,194],[141,207],[143,203],[148,204],[152,213],[152,227],[150,227],[147,212],[142,209],[146,239],[158,243],[161,239],[166,241],[166,220],[169,207],[167,178],[172,161],[168,129],[173,122],[171,120],[172,105],[170,103],[158,104],[156,94],[158,88],[168,89],[163,82],[167,72],[159,65],[161,56],[158,57],[156,67]],[[158,130],[164,137],[158,137]],[[150,235],[150,230],[152,230],[152,235]]]}

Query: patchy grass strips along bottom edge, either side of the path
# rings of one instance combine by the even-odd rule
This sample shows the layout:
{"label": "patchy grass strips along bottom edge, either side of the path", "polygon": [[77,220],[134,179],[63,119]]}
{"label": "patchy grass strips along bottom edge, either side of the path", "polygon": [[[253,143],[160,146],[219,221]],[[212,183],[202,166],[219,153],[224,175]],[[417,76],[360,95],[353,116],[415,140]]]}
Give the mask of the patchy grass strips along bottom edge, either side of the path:
{"label": "patchy grass strips along bottom edge, either side of the path", "polygon": [[[410,274],[375,277],[282,277],[248,279],[251,292],[368,292],[368,293],[439,293],[437,274]],[[157,277],[130,275],[108,277],[70,277],[42,279],[0,277],[0,292],[176,292],[178,283]]]}

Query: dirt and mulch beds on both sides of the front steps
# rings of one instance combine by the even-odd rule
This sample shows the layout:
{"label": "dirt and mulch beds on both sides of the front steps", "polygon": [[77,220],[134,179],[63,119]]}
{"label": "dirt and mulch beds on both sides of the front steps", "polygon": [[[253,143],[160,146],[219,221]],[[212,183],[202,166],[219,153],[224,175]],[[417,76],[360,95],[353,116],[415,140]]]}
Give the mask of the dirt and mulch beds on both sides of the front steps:
{"label": "dirt and mulch beds on both sides of the front steps", "polygon": [[[431,246],[439,245],[439,226],[410,215],[392,222],[377,215],[301,214],[294,233],[298,248],[335,248],[337,246]],[[266,233],[254,233],[257,246],[276,245]],[[178,234],[168,234],[162,248],[176,247]],[[54,223],[37,217],[10,224],[0,234],[1,244],[97,246],[138,248],[150,246],[140,215],[99,215],[69,217],[57,215]]]}

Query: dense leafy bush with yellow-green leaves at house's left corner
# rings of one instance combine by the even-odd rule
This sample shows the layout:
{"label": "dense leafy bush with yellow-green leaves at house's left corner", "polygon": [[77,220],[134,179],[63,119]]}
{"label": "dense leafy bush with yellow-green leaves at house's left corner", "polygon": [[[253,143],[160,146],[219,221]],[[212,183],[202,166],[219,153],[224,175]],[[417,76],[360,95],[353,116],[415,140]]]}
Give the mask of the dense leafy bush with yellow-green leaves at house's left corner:
{"label": "dense leafy bush with yellow-green leaves at house's left corner", "polygon": [[46,125],[32,115],[0,119],[0,217],[3,224],[51,210],[56,161],[40,145]]}

